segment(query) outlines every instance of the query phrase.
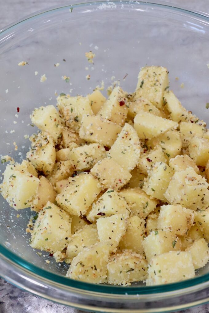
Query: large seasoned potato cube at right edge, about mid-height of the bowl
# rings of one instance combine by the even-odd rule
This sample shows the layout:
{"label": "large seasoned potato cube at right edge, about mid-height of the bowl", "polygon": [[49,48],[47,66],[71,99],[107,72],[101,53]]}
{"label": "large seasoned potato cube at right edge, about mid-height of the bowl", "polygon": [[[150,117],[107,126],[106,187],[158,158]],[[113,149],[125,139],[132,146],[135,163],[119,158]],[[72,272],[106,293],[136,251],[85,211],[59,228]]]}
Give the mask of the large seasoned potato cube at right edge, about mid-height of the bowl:
{"label": "large seasoned potato cube at right edge, about mid-height of the bowl", "polygon": [[164,196],[170,204],[180,204],[195,211],[205,209],[208,206],[208,186],[205,178],[188,167],[184,171],[175,172]]}

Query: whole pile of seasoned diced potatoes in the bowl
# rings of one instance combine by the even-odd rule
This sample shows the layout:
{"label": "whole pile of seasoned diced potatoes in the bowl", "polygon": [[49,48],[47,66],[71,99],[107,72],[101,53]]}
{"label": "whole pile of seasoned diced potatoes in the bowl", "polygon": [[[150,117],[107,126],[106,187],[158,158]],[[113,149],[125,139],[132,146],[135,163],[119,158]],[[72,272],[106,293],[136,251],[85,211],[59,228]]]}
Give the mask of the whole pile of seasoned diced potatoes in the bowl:
{"label": "whole pile of seasoned diced potatoes in the bowl", "polygon": [[34,109],[27,160],[10,162],[1,193],[37,212],[31,247],[90,283],[167,284],[209,260],[209,130],[146,66],[133,94],[60,94]]}

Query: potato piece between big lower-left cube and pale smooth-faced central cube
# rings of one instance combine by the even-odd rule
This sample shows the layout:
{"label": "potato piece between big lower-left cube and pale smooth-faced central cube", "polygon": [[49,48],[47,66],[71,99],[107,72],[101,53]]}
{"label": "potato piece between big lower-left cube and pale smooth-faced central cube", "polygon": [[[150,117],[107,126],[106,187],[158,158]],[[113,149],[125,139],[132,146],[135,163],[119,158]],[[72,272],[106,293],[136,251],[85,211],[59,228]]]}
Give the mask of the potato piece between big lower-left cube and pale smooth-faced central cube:
{"label": "potato piece between big lower-left cube and pale smooth-faced central cube", "polygon": [[71,236],[66,250],[65,262],[70,263],[83,248],[90,247],[97,242],[99,242],[99,237],[96,225],[91,224],[84,226]]}

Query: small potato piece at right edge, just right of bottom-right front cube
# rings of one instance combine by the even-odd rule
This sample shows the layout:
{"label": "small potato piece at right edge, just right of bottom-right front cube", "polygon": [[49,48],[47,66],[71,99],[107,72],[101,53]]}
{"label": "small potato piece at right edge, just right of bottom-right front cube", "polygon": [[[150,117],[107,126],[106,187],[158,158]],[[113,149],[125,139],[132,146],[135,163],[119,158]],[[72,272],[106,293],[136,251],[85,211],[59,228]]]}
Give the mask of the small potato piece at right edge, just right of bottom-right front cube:
{"label": "small potato piece at right edge, just right of bottom-right front cube", "polygon": [[195,269],[204,267],[209,261],[209,248],[204,238],[197,239],[186,251],[191,253]]}

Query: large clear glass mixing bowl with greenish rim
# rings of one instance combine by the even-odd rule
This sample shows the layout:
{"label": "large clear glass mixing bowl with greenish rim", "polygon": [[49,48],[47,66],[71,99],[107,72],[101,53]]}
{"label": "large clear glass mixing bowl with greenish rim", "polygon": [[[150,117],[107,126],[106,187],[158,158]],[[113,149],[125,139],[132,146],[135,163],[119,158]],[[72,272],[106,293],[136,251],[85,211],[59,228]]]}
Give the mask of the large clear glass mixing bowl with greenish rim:
{"label": "large clear glass mixing bowl with greenish rim", "polygon": [[[94,64],[85,57],[90,50],[96,54]],[[37,131],[29,119],[34,107],[56,105],[61,92],[86,95],[103,83],[106,93],[114,80],[133,92],[145,64],[167,67],[170,88],[207,122],[208,51],[207,14],[156,1],[71,1],[9,25],[0,32],[1,154],[16,161],[25,158],[27,137]],[[18,66],[21,61],[28,64]],[[47,80],[40,82],[43,74]],[[69,83],[62,80],[64,75]],[[24,290],[98,312],[168,312],[209,301],[208,266],[194,279],[157,287],[92,285],[65,278],[65,264],[29,246],[25,229],[30,209],[17,212],[2,197],[0,204],[0,275]]]}

